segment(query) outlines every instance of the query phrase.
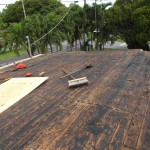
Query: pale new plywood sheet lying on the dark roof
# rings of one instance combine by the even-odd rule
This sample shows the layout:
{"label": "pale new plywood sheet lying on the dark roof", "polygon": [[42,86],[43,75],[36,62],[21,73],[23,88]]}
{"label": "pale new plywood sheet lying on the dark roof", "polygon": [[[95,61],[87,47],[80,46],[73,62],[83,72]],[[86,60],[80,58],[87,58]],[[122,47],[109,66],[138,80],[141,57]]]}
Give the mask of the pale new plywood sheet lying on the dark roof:
{"label": "pale new plywood sheet lying on the dark roof", "polygon": [[21,100],[48,77],[12,78],[0,85],[0,113]]}

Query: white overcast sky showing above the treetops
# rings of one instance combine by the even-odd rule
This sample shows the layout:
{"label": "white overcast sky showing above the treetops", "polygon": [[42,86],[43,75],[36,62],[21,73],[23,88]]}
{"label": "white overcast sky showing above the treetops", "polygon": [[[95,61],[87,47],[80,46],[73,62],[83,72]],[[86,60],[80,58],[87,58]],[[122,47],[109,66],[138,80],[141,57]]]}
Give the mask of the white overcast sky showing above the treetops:
{"label": "white overcast sky showing above the treetops", "polygon": [[[0,12],[3,10],[3,8],[6,7],[6,4],[13,4],[16,1],[18,1],[18,0],[0,0]],[[78,3],[77,3],[78,5],[83,6],[84,0],[77,0],[77,1],[78,1]],[[116,0],[96,0],[97,3],[100,3],[100,1],[101,1],[101,3],[102,2],[103,3],[107,3],[107,2],[114,3]],[[61,0],[61,2],[63,4],[65,4],[66,6],[69,6],[69,4],[73,3],[74,0]],[[92,3],[94,3],[94,2],[95,2],[95,0],[86,0],[86,3],[89,4],[89,5],[92,4]]]}

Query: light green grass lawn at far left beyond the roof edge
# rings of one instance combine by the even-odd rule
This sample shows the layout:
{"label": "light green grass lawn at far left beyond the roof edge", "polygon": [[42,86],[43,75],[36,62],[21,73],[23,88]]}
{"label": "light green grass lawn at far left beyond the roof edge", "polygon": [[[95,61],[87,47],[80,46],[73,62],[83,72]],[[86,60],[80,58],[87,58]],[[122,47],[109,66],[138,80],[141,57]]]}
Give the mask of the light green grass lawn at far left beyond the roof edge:
{"label": "light green grass lawn at far left beyond the roof edge", "polygon": [[[25,50],[19,50],[19,54],[24,55],[27,54],[27,52]],[[15,57],[17,57],[17,55],[14,53],[14,51],[0,53],[0,61],[7,60],[10,58],[15,58]]]}

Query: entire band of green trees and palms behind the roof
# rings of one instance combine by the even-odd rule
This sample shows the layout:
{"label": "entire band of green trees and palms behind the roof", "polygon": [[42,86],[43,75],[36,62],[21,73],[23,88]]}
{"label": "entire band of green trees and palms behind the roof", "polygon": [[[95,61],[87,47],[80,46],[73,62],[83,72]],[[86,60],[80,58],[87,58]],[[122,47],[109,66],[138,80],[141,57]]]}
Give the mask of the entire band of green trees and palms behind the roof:
{"label": "entire band of green trees and palms behind the roof", "polygon": [[[83,41],[84,44],[88,42],[85,35],[92,43],[96,31],[95,48],[98,43],[103,46],[106,42],[113,42],[117,37],[121,37],[130,49],[149,50],[148,0],[117,0],[109,9],[111,3],[94,3],[84,7],[71,4],[68,8],[57,0],[24,0],[24,6],[26,18],[21,0],[8,5],[0,13],[1,47],[15,49],[16,52],[20,47],[27,49],[26,36],[30,37],[31,45],[38,40],[32,45],[32,52],[38,49],[39,52],[45,53],[48,46],[52,51],[52,45],[61,49],[65,40],[70,47],[79,40],[82,47]],[[53,28],[53,32],[50,32]],[[86,45],[83,50],[87,50]]]}

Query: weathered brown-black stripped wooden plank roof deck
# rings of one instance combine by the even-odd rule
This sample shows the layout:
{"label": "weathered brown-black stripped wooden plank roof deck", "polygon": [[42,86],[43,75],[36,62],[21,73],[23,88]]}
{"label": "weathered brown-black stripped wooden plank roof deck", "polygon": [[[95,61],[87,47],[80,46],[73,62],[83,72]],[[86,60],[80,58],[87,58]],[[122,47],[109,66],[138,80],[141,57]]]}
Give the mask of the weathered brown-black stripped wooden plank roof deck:
{"label": "weathered brown-black stripped wooden plank roof deck", "polygon": [[[150,53],[140,50],[46,55],[12,77],[45,71],[48,81],[0,114],[0,150],[150,149]],[[92,63],[89,86],[68,89],[67,71]],[[16,93],[17,94],[17,93]]]}

